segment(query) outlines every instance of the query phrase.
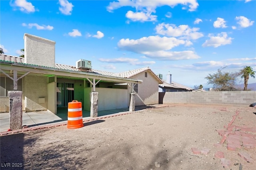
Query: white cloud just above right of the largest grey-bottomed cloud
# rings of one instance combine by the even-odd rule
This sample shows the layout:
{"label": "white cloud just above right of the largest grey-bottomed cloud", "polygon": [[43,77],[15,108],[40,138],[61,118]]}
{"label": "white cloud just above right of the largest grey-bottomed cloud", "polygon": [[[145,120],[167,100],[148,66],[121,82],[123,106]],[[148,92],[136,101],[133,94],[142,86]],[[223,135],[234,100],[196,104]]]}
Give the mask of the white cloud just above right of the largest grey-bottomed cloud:
{"label": "white cloud just above right of the largest grey-bottomed cloud", "polygon": [[175,26],[174,24],[158,24],[156,26],[156,34],[181,37],[186,39],[196,40],[204,36],[201,32],[198,32],[200,28],[190,28],[188,25]]}

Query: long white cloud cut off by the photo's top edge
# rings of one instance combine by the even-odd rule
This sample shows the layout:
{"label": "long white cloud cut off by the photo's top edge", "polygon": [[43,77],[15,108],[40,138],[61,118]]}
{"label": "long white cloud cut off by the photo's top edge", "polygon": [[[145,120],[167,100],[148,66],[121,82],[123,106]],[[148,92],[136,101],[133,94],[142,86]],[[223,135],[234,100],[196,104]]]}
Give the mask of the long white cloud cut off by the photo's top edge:
{"label": "long white cloud cut off by the photo's top edge", "polygon": [[118,8],[123,6],[131,6],[136,8],[136,10],[146,9],[146,11],[154,11],[157,7],[160,6],[170,6],[174,8],[174,6],[181,4],[189,7],[189,11],[194,11],[199,6],[196,0],[182,0],[182,1],[164,1],[164,0],[118,0],[118,2],[110,2],[107,6],[108,12],[113,12]]}

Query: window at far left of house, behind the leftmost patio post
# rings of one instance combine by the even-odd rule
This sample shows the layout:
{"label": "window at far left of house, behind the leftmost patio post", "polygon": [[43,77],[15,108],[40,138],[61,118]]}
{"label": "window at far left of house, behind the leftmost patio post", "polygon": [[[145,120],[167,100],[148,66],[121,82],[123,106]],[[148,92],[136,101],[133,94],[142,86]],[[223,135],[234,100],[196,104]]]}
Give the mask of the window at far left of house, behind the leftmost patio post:
{"label": "window at far left of house, behind the leftmost patio post", "polygon": [[[18,91],[22,91],[22,79],[18,80]],[[13,90],[13,80],[9,77],[0,77],[0,97],[8,97],[8,91]]]}

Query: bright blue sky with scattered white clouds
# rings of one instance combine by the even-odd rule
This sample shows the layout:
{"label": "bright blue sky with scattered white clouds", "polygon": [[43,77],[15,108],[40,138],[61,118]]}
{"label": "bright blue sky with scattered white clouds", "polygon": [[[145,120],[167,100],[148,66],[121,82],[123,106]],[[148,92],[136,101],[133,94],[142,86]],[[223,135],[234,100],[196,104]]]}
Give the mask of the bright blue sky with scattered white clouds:
{"label": "bright blue sky with scattered white clouds", "polygon": [[56,63],[86,59],[114,73],[149,66],[211,87],[204,77],[221,67],[256,71],[255,9],[255,0],[0,1],[0,47],[19,56],[28,33],[56,42]]}

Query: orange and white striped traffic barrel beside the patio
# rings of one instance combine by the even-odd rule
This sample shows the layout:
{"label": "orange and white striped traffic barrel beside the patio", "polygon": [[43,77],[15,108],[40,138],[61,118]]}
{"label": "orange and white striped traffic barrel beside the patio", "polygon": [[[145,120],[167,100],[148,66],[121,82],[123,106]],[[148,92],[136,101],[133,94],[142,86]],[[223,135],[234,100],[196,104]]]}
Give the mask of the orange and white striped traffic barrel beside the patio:
{"label": "orange and white striped traffic barrel beside the patio", "polygon": [[68,128],[84,127],[82,102],[73,100],[68,103]]}

